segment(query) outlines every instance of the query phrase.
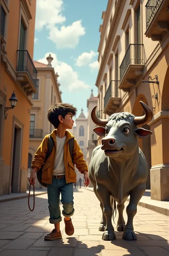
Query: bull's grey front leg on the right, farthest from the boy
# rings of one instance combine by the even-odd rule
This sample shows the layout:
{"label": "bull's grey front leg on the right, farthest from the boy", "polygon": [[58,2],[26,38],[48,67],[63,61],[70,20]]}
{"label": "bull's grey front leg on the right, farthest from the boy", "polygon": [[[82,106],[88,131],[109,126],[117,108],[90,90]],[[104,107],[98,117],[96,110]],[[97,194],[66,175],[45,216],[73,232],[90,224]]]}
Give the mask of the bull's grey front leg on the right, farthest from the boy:
{"label": "bull's grey front leg on the right, farthest from the boy", "polygon": [[145,192],[145,183],[139,184],[136,186],[131,194],[130,194],[130,202],[126,208],[127,212],[127,224],[126,227],[124,228],[124,233],[123,233],[123,239],[124,240],[137,240],[137,236],[134,233],[134,228],[133,228],[133,218],[135,214],[137,213],[137,204],[139,200],[142,198],[142,195]]}

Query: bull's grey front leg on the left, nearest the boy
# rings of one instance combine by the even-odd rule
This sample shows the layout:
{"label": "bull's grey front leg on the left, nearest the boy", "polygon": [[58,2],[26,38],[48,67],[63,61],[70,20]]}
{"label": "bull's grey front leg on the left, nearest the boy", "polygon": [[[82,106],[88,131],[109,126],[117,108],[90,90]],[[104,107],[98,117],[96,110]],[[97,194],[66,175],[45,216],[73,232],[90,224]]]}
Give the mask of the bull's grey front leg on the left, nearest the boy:
{"label": "bull's grey front leg on the left, nearest the boy", "polygon": [[111,207],[110,194],[107,188],[101,184],[98,184],[97,194],[99,195],[99,198],[103,203],[103,213],[106,217],[106,227],[105,232],[102,235],[102,239],[112,241],[116,239],[116,235],[114,233],[114,228],[112,225],[113,209]]}

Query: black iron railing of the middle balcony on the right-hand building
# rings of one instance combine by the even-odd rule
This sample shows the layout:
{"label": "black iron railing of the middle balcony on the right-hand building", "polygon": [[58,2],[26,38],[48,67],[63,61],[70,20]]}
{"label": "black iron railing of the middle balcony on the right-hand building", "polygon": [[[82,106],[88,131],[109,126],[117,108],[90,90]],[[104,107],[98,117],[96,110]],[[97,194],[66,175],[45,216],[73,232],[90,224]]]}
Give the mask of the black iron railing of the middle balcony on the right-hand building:
{"label": "black iron railing of the middle balcony on the right-hand building", "polygon": [[143,44],[129,44],[123,61],[120,65],[120,80],[129,65],[144,65]]}

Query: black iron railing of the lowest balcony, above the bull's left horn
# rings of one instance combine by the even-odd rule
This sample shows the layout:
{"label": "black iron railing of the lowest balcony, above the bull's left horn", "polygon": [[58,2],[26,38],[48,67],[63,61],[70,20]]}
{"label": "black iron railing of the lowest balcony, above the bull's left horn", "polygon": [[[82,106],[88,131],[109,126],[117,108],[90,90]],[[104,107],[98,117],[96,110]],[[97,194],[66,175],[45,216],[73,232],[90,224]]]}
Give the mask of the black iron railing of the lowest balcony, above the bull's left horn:
{"label": "black iron railing of the lowest balcony, above the bull's left horn", "polygon": [[[112,80],[104,96],[104,108],[106,107],[110,98],[118,97],[119,80]],[[114,90],[113,90],[114,87]]]}

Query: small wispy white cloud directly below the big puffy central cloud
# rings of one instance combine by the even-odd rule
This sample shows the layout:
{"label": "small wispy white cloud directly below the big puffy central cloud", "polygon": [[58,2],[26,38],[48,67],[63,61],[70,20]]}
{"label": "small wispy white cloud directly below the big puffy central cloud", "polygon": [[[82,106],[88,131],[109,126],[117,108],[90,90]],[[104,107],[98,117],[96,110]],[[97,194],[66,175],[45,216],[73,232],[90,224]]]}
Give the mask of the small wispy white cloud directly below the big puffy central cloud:
{"label": "small wispy white cloud directly below the big puffy central cloud", "polygon": [[90,52],[83,52],[77,57],[75,65],[78,67],[87,66],[93,60],[93,57],[97,55],[98,53],[92,50]]}

